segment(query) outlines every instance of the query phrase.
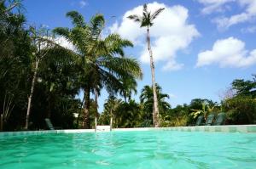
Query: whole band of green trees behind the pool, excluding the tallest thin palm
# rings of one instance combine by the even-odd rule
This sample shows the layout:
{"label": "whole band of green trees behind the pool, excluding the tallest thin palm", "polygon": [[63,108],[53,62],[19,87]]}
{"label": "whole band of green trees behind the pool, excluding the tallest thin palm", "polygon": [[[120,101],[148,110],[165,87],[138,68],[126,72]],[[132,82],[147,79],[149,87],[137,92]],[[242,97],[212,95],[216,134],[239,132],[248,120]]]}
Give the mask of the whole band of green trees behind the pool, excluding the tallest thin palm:
{"label": "whole band of green trees behind the pool, excluding the tallest thin palm", "polygon": [[[3,130],[45,129],[45,118],[61,128],[91,128],[95,117],[113,127],[153,127],[154,88],[138,91],[143,77],[136,59],[125,55],[132,43],[118,34],[102,37],[105,20],[96,14],[90,21],[76,11],[67,13],[73,28],[53,31],[26,26],[19,1],[0,1],[0,114]],[[73,49],[63,48],[55,39],[65,37]],[[97,98],[102,89],[109,97],[99,113]],[[84,93],[82,100],[77,99]],[[155,84],[159,125],[189,126],[198,115],[224,111],[227,124],[256,123],[256,76],[237,79],[224,93],[220,104],[193,99],[172,108],[169,96]],[[92,98],[91,96],[94,96]],[[75,115],[78,115],[76,117]],[[27,122],[26,122],[27,121]]]}

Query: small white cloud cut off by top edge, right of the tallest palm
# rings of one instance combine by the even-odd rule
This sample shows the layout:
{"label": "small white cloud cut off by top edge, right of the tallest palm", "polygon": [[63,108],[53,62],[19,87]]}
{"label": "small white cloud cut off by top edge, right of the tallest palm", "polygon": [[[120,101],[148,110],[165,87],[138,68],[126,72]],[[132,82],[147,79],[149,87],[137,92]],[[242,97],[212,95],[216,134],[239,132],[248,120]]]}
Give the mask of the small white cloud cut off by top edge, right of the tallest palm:
{"label": "small white cloud cut off by top edge, right of the tallest palm", "polygon": [[204,8],[201,9],[202,14],[211,14],[213,12],[222,12],[228,6],[225,6],[226,3],[234,2],[236,0],[198,0],[199,3],[204,5]]}

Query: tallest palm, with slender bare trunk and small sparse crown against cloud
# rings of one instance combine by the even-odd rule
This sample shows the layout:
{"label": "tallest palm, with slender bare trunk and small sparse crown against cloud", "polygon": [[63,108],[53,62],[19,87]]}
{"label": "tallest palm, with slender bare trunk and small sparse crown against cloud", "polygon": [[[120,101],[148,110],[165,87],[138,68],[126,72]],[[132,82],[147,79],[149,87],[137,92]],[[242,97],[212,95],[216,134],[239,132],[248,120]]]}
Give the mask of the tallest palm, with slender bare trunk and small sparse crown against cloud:
{"label": "tallest palm, with slender bare trunk and small sparse crown against cloud", "polygon": [[152,87],[153,87],[153,93],[154,93],[154,111],[153,111],[154,127],[159,127],[159,108],[158,108],[157,94],[156,94],[156,87],[155,87],[154,59],[153,59],[152,49],[151,49],[151,46],[150,46],[149,28],[154,24],[153,20],[164,9],[165,8],[159,8],[153,14],[151,14],[151,12],[148,11],[147,4],[144,4],[143,5],[143,16],[138,16],[137,14],[132,14],[132,15],[128,16],[129,19],[134,20],[135,22],[140,23],[141,27],[147,27],[147,43],[148,43],[148,52],[149,52],[149,57],[150,57]]}

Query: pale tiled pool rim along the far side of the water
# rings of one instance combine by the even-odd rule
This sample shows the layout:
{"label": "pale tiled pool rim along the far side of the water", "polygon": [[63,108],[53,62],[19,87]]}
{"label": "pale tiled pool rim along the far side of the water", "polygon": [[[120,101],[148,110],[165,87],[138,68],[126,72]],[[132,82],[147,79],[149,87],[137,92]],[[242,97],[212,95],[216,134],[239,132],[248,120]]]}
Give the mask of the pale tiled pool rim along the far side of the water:
{"label": "pale tiled pool rim along the far side of the water", "polygon": [[[256,125],[225,125],[225,126],[195,126],[195,127],[142,127],[142,128],[113,128],[113,132],[132,131],[180,131],[180,132],[250,132],[256,133]],[[0,137],[39,135],[44,133],[82,133],[95,132],[95,129],[70,129],[70,130],[41,130],[26,132],[0,132]]]}

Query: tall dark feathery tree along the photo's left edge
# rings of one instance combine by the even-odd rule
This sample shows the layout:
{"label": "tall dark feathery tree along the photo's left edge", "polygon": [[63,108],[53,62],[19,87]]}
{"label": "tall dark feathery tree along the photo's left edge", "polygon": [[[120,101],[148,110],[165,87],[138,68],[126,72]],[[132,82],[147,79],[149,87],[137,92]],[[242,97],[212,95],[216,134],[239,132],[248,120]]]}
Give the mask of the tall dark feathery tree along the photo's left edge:
{"label": "tall dark feathery tree along the photo's left edge", "polygon": [[20,110],[21,117],[26,104],[31,39],[23,27],[26,18],[20,6],[17,0],[0,1],[0,112],[4,123],[15,110]]}

